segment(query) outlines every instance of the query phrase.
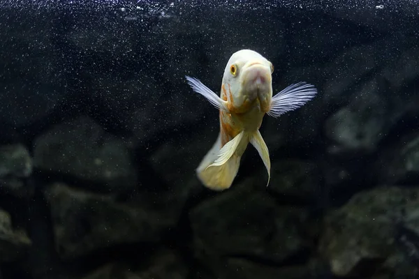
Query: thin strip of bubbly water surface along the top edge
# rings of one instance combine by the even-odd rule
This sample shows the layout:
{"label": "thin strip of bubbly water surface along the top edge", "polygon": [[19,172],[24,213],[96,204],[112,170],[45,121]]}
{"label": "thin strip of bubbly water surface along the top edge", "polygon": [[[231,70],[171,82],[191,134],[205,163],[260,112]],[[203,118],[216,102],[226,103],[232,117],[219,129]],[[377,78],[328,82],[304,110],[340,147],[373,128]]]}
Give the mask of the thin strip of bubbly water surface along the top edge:
{"label": "thin strip of bubbly water surface along the top edge", "polygon": [[182,6],[183,8],[198,8],[208,6],[210,8],[245,8],[247,10],[269,9],[269,8],[304,8],[304,9],[328,9],[328,8],[374,8],[378,10],[391,9],[397,11],[400,7],[411,7],[417,9],[417,0],[277,0],[277,1],[247,1],[247,0],[2,0],[0,8],[66,8],[79,6],[84,8],[120,8],[122,10],[136,10],[145,12],[150,16],[158,13],[166,15],[166,10]]}

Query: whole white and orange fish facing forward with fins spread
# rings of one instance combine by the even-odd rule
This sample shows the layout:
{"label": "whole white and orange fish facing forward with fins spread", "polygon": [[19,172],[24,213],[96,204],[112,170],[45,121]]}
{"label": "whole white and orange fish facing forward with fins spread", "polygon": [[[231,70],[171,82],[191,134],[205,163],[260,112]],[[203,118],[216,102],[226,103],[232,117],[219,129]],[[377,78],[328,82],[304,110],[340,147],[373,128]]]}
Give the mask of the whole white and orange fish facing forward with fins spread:
{"label": "whole white and orange fish facing forward with fins spread", "polygon": [[311,84],[300,82],[272,97],[273,71],[272,63],[258,52],[240,50],[227,62],[219,96],[196,78],[186,76],[193,91],[219,109],[219,135],[196,169],[205,187],[212,190],[230,188],[249,143],[263,160],[269,184],[270,156],[259,132],[263,116],[278,117],[295,110],[317,93]]}

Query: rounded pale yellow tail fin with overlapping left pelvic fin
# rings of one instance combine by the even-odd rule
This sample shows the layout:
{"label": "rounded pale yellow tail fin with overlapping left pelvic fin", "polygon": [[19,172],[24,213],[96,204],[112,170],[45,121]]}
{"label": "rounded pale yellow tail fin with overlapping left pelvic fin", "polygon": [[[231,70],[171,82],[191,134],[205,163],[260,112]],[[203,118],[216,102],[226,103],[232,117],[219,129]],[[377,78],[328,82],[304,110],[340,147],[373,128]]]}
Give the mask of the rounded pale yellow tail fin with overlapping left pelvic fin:
{"label": "rounded pale yellow tail fin with overlapping left pelvic fin", "polygon": [[198,178],[205,187],[216,191],[230,188],[240,167],[242,157],[235,151],[243,135],[244,132],[240,133],[221,148],[221,134],[219,134],[214,146],[196,169]]}

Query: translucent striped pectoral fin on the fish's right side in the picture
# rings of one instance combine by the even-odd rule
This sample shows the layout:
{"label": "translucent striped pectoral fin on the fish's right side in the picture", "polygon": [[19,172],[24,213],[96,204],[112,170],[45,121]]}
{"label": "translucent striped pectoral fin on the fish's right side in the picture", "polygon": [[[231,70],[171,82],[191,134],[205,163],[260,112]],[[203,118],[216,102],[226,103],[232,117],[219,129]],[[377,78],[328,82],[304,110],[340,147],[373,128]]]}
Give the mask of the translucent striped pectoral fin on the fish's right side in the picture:
{"label": "translucent striped pectoral fin on the fish's right side in the picture", "polygon": [[312,84],[307,84],[306,82],[291,84],[286,89],[272,97],[272,103],[267,115],[276,118],[281,114],[291,112],[291,110],[296,110],[314,98],[316,93],[317,89]]}

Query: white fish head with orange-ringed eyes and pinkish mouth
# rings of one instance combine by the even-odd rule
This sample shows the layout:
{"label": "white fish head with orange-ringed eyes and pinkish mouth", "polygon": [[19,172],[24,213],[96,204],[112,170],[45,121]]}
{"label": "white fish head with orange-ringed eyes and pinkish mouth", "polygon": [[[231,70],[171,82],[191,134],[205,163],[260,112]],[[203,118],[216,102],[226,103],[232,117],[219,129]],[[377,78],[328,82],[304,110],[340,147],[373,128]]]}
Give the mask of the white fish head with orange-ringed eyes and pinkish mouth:
{"label": "white fish head with orange-ringed eyes and pinkish mouth", "polygon": [[223,75],[222,91],[229,109],[244,113],[257,104],[262,112],[267,112],[272,100],[273,70],[272,63],[258,52],[235,52],[228,60]]}

